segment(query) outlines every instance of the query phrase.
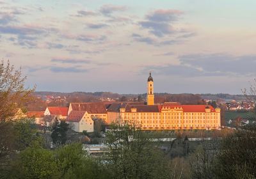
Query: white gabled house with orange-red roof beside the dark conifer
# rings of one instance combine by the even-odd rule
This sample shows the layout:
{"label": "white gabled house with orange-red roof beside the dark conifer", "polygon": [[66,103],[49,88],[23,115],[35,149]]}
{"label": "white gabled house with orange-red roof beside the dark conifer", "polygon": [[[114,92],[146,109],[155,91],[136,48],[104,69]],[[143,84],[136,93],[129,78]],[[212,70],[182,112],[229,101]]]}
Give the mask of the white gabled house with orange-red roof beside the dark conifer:
{"label": "white gabled house with orange-red roof beside the dark conifer", "polygon": [[71,111],[66,122],[76,132],[93,132],[93,120],[91,115],[84,111]]}

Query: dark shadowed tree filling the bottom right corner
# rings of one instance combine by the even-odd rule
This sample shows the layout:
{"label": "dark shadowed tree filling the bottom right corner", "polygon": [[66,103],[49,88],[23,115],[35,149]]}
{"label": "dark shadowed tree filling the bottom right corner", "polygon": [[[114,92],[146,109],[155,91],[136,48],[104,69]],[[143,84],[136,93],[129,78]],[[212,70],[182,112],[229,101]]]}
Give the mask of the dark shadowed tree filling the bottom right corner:
{"label": "dark shadowed tree filling the bottom right corner", "polygon": [[226,137],[217,157],[218,178],[256,177],[256,126],[237,130]]}

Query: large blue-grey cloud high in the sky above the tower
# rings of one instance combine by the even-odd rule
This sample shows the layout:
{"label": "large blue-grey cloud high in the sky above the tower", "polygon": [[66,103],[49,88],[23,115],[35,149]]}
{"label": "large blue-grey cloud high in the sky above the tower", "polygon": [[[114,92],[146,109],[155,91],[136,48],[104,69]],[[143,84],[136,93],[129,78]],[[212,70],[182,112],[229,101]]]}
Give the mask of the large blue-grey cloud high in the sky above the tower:
{"label": "large blue-grey cloud high in the sky above the tower", "polygon": [[179,19],[182,14],[179,10],[156,10],[146,16],[146,19],[139,22],[143,29],[157,37],[175,33],[173,22]]}

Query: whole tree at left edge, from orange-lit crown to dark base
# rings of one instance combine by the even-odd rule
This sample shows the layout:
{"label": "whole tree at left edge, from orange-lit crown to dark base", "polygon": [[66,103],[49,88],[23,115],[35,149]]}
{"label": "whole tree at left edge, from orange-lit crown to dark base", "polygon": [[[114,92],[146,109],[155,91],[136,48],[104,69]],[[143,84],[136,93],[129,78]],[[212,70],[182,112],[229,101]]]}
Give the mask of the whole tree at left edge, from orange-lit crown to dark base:
{"label": "whole tree at left edge, from orange-lit crown to dark base", "polygon": [[12,117],[18,108],[31,100],[31,93],[35,88],[25,88],[26,77],[22,77],[21,70],[15,70],[8,61],[0,61],[0,167],[8,166],[10,153],[15,151],[15,128]]}

